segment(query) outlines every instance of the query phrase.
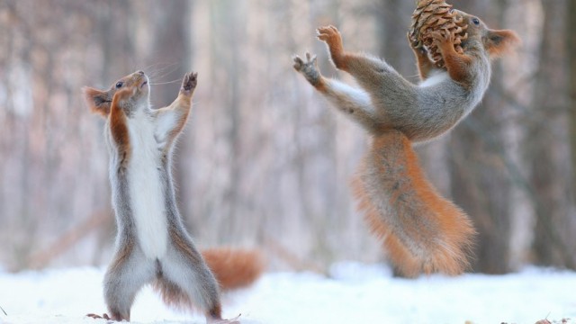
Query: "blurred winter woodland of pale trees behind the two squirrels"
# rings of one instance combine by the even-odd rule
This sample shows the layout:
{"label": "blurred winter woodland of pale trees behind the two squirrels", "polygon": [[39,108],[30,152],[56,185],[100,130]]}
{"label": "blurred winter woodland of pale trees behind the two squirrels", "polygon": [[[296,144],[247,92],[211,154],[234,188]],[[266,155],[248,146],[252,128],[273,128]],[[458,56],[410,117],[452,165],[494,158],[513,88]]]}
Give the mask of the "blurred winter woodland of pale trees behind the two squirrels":
{"label": "blurred winter woodland of pale trees behind the two squirrels", "polygon": [[[418,148],[438,189],[480,232],[473,270],[576,268],[576,2],[453,0],[523,45],[495,65],[482,105]],[[0,267],[103,265],[114,222],[103,121],[83,85],[137,69],[152,102],[199,72],[175,166],[185,222],[202,247],[260,247],[272,269],[324,272],[383,252],[348,182],[367,138],[293,71],[319,55],[315,28],[417,80],[406,0],[0,1]]]}

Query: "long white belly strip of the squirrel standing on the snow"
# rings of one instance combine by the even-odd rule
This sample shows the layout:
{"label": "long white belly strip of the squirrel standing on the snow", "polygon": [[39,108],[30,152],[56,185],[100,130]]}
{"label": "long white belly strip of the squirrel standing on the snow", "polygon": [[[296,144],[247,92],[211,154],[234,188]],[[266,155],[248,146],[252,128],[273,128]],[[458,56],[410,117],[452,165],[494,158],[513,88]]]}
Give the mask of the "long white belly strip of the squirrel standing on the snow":
{"label": "long white belly strip of the squirrel standing on the snow", "polygon": [[154,127],[145,116],[129,121],[131,157],[128,172],[130,207],[136,222],[139,246],[148,258],[166,254],[167,224],[160,157]]}

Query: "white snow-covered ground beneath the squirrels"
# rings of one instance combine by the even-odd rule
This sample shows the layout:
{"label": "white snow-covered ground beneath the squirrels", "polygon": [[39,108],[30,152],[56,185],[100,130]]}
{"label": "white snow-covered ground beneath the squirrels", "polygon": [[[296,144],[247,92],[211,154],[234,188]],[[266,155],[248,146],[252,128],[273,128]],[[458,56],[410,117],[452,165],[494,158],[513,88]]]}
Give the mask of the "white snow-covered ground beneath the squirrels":
{"label": "white snow-covered ground beneath the squirrels", "polygon": [[[0,272],[0,323],[104,323],[103,269]],[[514,275],[393,278],[383,266],[343,263],[331,277],[269,273],[252,288],[224,296],[224,315],[275,323],[576,323],[576,273],[527,268]],[[147,287],[132,308],[138,323],[203,323],[167,309]]]}

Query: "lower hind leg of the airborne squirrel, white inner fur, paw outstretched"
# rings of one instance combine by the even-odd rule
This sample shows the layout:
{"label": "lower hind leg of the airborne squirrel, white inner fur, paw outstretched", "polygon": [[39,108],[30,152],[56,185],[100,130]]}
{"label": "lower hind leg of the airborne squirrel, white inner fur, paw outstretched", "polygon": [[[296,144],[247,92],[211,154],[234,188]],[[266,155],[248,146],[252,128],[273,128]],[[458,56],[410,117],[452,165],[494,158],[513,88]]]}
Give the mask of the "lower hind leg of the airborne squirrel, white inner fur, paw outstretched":
{"label": "lower hind leg of the airborne squirrel, white inner fur, paw outstretched", "polygon": [[361,89],[322,76],[316,56],[311,57],[310,53],[306,53],[305,61],[298,56],[293,59],[294,69],[300,72],[339,112],[358,122],[370,132],[377,130],[377,116],[368,94]]}

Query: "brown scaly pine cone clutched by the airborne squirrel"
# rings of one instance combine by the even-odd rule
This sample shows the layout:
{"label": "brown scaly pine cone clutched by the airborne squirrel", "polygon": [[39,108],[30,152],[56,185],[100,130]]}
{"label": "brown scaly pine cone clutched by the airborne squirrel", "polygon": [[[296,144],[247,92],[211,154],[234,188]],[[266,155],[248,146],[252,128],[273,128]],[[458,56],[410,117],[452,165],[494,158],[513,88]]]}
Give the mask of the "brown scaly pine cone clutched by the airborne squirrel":
{"label": "brown scaly pine cone clutched by the airborne squirrel", "polygon": [[446,4],[444,0],[419,0],[410,27],[410,40],[417,48],[423,47],[428,51],[428,58],[437,67],[444,68],[444,59],[434,45],[431,31],[445,30],[454,35],[455,50],[464,53],[461,44],[468,39],[466,30],[468,25],[464,19],[455,13],[452,4]]}

